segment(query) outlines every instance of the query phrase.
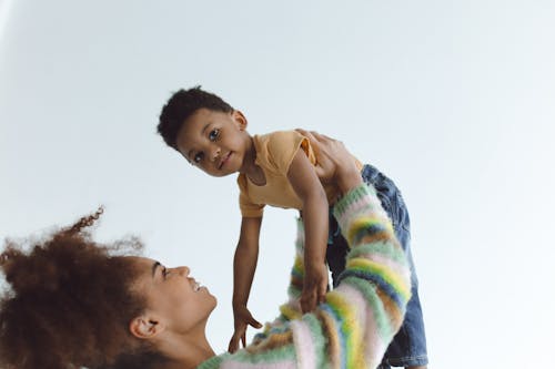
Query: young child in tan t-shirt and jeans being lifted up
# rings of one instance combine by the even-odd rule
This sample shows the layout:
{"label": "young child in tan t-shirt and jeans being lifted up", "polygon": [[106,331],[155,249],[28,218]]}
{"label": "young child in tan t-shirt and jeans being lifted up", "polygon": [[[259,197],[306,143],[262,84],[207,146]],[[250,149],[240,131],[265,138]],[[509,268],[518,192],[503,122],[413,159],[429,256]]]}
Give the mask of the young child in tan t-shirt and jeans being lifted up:
{"label": "young child in tan t-shirt and jeans being lifted up", "polygon": [[[251,136],[246,125],[243,113],[199,86],[174,93],[163,106],[158,125],[165,143],[206,174],[220,177],[239,173],[242,222],[233,262],[235,331],[230,351],[238,349],[240,340],[245,345],[248,325],[261,327],[246,308],[246,303],[258,262],[265,205],[301,212],[305,229],[305,277],[300,300],[303,311],[313,310],[326,293],[326,263],[332,271],[333,285],[337,285],[347,252],[337,223],[330,215],[339,189],[335,183],[319,176],[316,155],[307,139],[310,134],[297,130]],[[408,248],[408,214],[391,180],[373,166],[362,165],[355,157],[353,161],[364,181],[376,188],[382,205],[393,221],[395,234],[410,257],[412,269],[413,298],[407,308],[411,311],[407,311],[403,327],[390,346],[383,366],[418,368],[427,363],[427,357],[417,280]]]}

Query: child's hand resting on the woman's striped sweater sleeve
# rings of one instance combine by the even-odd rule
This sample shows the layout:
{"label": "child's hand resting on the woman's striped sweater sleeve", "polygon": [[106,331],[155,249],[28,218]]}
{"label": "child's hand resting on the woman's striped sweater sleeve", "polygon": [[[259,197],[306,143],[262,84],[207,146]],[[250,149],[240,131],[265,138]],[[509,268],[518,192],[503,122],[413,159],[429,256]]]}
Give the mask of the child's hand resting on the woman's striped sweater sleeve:
{"label": "child's hand resting on the woman's striped sweater sleeve", "polygon": [[324,301],[327,291],[327,267],[325,264],[304,266],[304,285],[301,295],[301,309],[311,312],[316,305]]}

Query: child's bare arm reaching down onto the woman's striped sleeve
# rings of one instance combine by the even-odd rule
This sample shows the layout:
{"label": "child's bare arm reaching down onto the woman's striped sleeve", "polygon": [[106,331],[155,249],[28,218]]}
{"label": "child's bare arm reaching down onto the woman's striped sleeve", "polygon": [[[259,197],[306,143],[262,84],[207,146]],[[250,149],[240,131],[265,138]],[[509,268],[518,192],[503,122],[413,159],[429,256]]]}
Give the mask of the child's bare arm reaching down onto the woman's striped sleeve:
{"label": "child's bare arm reaching down onto the woman's striped sleeve", "polygon": [[304,269],[305,278],[301,296],[303,312],[312,311],[323,301],[327,290],[327,268],[325,252],[327,247],[329,204],[324,188],[314,166],[306,154],[299,150],[291,162],[287,178],[303,203],[305,229]]}

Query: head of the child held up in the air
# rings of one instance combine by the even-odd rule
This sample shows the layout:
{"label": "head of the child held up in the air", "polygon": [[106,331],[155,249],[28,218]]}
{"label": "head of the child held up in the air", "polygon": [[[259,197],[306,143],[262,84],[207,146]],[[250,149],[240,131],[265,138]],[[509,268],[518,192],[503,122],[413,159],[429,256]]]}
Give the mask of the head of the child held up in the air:
{"label": "head of the child held up in the air", "polygon": [[158,125],[170,147],[212,176],[241,171],[251,140],[245,129],[240,111],[200,86],[175,92]]}

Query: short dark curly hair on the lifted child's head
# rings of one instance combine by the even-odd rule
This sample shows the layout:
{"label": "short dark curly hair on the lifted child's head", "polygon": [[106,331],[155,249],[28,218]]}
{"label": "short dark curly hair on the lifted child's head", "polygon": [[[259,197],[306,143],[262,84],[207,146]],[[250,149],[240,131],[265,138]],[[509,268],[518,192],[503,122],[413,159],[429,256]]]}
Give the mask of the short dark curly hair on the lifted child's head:
{"label": "short dark curly hair on the lifted child's head", "polygon": [[233,111],[233,107],[220,96],[201,90],[200,85],[189,90],[179,90],[162,107],[158,124],[158,133],[164,139],[168,146],[178,150],[176,140],[181,126],[189,116],[201,107],[224,113]]}

